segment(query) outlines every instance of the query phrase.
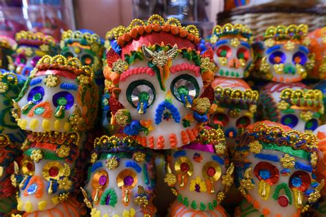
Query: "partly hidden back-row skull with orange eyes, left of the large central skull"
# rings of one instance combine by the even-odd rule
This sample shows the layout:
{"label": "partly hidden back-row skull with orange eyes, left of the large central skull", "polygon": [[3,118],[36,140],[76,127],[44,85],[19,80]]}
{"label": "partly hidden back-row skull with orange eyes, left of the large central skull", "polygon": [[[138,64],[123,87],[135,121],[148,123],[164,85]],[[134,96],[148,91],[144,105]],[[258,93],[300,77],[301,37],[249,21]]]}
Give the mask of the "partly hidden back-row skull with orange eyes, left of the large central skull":
{"label": "partly hidden back-row skull with orange eyes, left of the large central skull", "polygon": [[104,41],[90,30],[67,30],[61,35],[61,54],[65,58],[78,58],[93,69],[96,78],[102,78]]}

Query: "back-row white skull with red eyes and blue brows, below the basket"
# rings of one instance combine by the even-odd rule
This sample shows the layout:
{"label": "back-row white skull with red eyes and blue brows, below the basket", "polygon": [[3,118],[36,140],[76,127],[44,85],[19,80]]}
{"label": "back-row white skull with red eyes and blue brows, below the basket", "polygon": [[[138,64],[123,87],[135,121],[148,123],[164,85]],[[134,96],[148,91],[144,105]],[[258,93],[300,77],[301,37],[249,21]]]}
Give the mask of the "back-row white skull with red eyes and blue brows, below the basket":
{"label": "back-row white skull with red eyes and blue brows, below the basket", "polygon": [[215,76],[228,78],[249,76],[254,66],[252,32],[249,27],[231,23],[216,25],[208,40],[214,50],[214,62],[217,66]]}

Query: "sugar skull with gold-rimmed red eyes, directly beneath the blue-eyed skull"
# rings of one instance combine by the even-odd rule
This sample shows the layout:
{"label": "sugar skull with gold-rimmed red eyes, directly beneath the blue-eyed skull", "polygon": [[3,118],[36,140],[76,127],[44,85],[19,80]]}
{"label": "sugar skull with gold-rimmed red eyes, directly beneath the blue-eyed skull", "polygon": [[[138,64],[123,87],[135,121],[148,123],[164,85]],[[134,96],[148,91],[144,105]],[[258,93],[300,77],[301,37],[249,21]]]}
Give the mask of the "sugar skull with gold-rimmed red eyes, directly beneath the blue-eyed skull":
{"label": "sugar skull with gold-rimmed red eyes, directly beneath the blue-eyed skull", "polygon": [[[30,133],[15,165],[12,185],[19,187],[17,209],[25,212],[52,209],[80,185],[75,164],[83,152],[78,133]],[[83,160],[85,161],[85,159]]]}

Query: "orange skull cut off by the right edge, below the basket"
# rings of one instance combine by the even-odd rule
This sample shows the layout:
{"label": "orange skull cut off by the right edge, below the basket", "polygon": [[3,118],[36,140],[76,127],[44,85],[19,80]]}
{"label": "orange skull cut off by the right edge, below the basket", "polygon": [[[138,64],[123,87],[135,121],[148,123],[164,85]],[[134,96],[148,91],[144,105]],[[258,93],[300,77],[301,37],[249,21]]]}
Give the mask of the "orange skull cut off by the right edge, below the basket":
{"label": "orange skull cut off by the right edge, below the basket", "polygon": [[326,27],[310,32],[309,38],[309,52],[315,56],[315,66],[309,76],[326,80]]}

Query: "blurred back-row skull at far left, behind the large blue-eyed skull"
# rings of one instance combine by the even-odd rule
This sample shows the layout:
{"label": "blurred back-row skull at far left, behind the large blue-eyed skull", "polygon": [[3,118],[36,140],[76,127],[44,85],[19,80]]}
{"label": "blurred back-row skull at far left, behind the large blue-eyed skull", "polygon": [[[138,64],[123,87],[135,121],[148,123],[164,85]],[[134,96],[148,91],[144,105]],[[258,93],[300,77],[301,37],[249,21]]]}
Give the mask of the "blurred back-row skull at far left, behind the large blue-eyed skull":
{"label": "blurred back-row skull at far left, behind the large blue-eyed skull", "polygon": [[16,34],[15,40],[17,42],[14,54],[15,71],[26,78],[42,56],[54,56],[57,52],[54,38],[41,32],[21,31]]}

